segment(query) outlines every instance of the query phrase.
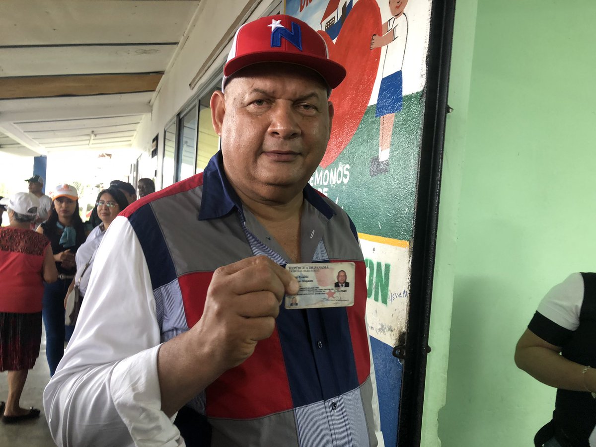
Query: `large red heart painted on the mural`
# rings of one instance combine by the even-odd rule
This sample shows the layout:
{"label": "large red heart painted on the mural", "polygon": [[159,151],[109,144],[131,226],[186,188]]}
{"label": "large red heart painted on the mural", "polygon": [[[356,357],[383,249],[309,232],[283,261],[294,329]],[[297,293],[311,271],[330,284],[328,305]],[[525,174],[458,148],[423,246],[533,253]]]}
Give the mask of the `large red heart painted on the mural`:
{"label": "large red heart painted on the mural", "polygon": [[[375,0],[358,0],[347,15],[335,44],[324,31],[329,56],[346,67],[346,79],[331,93],[335,109],[331,138],[321,167],[333,163],[356,133],[367,110],[377,77],[381,49],[370,49],[373,34],[381,34],[381,11]],[[376,148],[375,148],[376,150]]]}

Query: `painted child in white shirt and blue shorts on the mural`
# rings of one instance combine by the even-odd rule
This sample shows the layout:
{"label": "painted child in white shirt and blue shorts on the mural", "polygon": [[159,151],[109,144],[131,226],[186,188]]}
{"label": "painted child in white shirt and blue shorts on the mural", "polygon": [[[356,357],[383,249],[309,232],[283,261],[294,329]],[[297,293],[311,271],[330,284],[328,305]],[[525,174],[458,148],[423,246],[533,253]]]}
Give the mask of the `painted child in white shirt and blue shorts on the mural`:
{"label": "painted child in white shirt and blue shorts on the mural", "polygon": [[371,49],[387,46],[381,86],[378,91],[376,117],[381,119],[378,142],[378,157],[371,160],[371,175],[389,171],[389,150],[393,134],[395,114],[403,105],[403,57],[408,41],[408,17],[403,13],[408,0],[389,0],[392,17],[383,23],[383,35],[373,34]]}

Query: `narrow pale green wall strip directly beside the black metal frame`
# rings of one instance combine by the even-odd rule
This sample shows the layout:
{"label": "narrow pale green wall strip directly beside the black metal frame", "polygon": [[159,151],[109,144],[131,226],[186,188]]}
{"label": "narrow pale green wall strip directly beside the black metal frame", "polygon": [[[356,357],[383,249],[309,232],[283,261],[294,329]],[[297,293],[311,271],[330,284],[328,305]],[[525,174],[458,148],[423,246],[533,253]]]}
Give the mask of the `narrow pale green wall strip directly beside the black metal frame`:
{"label": "narrow pale green wall strip directly beside the black metal frame", "polygon": [[427,379],[424,393],[423,447],[440,446],[439,411],[446,402],[449,364],[449,333],[455,277],[454,257],[457,253],[457,223],[460,210],[461,177],[464,169],[465,142],[468,128],[468,101],[474,33],[476,32],[477,0],[458,0],[454,24],[454,45],[451,55],[449,105],[445,153],[441,180],[439,227],[433,280],[433,302],[430,318]]}

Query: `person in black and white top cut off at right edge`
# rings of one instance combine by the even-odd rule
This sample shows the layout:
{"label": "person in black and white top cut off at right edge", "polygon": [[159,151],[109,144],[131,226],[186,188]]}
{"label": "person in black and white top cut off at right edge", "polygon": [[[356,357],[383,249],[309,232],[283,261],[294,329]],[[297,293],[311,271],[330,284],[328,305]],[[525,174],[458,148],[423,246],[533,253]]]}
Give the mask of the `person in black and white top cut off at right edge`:
{"label": "person in black and white top cut off at right edge", "polygon": [[542,299],[516,347],[519,368],[557,388],[545,447],[596,446],[596,274],[574,273]]}

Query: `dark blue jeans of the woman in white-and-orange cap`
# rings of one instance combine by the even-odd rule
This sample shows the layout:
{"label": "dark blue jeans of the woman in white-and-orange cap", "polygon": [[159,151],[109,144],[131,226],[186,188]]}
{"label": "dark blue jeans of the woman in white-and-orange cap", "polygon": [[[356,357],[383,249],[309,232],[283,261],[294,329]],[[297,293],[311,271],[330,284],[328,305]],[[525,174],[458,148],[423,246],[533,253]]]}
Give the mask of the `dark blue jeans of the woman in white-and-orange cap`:
{"label": "dark blue jeans of the woman in white-and-orange cap", "polygon": [[48,359],[49,375],[54,375],[64,355],[64,341],[70,340],[74,326],[64,325],[64,297],[72,280],[58,280],[44,285],[42,316],[45,326],[45,355]]}

